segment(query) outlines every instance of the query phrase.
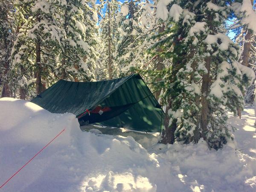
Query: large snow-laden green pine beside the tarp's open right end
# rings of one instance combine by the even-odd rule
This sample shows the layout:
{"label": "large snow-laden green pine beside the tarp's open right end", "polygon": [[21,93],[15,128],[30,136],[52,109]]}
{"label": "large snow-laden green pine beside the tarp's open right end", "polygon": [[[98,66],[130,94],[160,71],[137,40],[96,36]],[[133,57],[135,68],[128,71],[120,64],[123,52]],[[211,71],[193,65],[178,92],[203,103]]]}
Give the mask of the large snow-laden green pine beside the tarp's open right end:
{"label": "large snow-laden green pine beside the tarp's open right end", "polygon": [[171,73],[165,76],[169,87],[162,142],[197,143],[203,137],[210,148],[221,148],[232,139],[225,110],[242,108],[242,92],[254,75],[237,61],[239,46],[218,29],[232,1],[159,3],[166,20],[177,27],[169,36],[174,47],[169,53]]}

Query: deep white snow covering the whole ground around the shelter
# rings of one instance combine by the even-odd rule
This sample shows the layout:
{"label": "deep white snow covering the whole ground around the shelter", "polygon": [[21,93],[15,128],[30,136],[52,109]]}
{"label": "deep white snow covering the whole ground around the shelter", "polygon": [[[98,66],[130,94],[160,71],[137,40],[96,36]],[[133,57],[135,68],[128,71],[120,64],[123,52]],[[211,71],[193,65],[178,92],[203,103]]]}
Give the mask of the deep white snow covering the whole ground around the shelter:
{"label": "deep white snow covering the whole ground around the shelter", "polygon": [[[0,99],[0,186],[63,129],[0,192],[255,192],[253,108],[245,108],[237,147],[157,144],[157,137],[82,132],[73,114],[53,114],[19,99]],[[134,140],[136,139],[136,141]],[[139,142],[139,143],[138,143]],[[141,143],[141,144],[140,144]],[[143,147],[144,146],[144,147]],[[237,148],[237,150],[236,150]]]}

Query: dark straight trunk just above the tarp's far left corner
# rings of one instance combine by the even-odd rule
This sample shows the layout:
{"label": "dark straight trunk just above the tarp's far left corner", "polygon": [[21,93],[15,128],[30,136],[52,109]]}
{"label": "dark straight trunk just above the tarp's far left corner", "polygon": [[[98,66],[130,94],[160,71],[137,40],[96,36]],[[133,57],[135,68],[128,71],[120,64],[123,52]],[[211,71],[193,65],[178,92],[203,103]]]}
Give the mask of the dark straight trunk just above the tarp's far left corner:
{"label": "dark straight trunk just above the tarp's far left corner", "polygon": [[42,66],[41,66],[41,45],[40,41],[36,42],[36,94],[39,95],[43,91],[42,84]]}

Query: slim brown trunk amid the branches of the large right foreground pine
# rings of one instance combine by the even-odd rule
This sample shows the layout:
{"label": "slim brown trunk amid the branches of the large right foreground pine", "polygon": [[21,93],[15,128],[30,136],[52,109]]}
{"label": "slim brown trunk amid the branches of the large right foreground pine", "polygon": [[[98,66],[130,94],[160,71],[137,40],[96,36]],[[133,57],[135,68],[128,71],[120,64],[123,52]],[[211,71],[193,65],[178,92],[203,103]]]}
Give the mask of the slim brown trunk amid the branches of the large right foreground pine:
{"label": "slim brown trunk amid the branches of the large right foreground pine", "polygon": [[208,125],[208,90],[209,90],[209,83],[210,83],[210,65],[211,65],[211,58],[207,57],[205,59],[205,67],[207,69],[207,73],[203,75],[202,78],[202,90],[201,90],[201,128],[203,131],[203,138],[206,139],[205,133],[207,132],[207,125]]}

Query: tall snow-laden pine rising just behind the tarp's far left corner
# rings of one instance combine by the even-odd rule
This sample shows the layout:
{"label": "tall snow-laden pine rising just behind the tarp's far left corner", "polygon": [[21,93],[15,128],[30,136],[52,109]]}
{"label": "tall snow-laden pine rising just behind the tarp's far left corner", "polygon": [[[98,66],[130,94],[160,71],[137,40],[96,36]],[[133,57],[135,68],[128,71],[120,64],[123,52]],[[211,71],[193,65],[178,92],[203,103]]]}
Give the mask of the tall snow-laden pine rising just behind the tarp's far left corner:
{"label": "tall snow-laden pine rising just behind the tarp's far left corner", "polygon": [[36,94],[46,88],[49,73],[56,67],[55,55],[61,45],[52,3],[52,0],[15,1],[19,22],[12,49],[12,68],[19,74],[20,87],[27,88],[36,82]]}

